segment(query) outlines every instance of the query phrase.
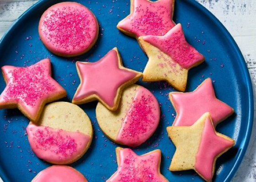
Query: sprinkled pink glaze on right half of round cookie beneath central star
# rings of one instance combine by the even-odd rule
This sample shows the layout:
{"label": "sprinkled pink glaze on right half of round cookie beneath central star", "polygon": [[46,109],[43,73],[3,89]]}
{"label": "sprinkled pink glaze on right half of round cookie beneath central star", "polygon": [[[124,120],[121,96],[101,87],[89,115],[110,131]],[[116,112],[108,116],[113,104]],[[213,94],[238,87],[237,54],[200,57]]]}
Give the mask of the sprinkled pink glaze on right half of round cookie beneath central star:
{"label": "sprinkled pink glaze on right half of round cookie beneath central star", "polygon": [[116,141],[131,147],[139,146],[152,136],[159,120],[160,108],[155,96],[139,86]]}

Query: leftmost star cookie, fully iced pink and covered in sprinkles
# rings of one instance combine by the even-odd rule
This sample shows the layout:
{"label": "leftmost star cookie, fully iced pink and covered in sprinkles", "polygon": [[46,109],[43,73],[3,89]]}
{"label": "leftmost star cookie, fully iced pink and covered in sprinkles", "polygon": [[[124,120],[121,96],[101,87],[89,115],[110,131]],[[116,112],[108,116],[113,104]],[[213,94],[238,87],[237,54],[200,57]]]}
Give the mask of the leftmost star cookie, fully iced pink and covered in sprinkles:
{"label": "leftmost star cookie, fully iced pink and covered in sprinkles", "polygon": [[0,109],[18,108],[37,122],[46,103],[66,96],[63,87],[51,77],[51,62],[43,59],[28,67],[3,66],[6,82],[0,95]]}

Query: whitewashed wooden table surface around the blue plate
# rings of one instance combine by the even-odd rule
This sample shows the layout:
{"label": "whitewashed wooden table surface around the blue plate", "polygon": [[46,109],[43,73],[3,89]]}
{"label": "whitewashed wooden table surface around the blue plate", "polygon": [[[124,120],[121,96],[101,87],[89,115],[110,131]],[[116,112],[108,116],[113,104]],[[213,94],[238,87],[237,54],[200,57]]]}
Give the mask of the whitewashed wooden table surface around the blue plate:
{"label": "whitewashed wooden table surface around the blue plate", "polygon": [[[0,38],[25,10],[38,0],[0,0]],[[256,0],[197,0],[229,30],[239,45],[256,88]],[[254,94],[256,100],[256,94]],[[255,106],[256,107],[256,106]],[[256,112],[255,112],[256,116]],[[256,117],[254,118],[254,121]],[[233,182],[256,182],[256,124],[249,147]],[[0,180],[1,181],[1,180]]]}

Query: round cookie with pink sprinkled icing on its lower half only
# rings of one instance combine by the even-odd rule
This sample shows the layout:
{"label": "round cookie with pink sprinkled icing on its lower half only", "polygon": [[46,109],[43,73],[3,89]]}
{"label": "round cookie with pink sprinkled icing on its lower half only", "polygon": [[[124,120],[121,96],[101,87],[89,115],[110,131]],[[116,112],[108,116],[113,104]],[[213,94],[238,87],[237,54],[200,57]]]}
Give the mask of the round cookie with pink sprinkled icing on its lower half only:
{"label": "round cookie with pink sprinkled icing on its lower half only", "polygon": [[93,130],[79,106],[53,102],[45,106],[37,125],[29,123],[27,135],[37,157],[53,164],[69,164],[90,147]]}

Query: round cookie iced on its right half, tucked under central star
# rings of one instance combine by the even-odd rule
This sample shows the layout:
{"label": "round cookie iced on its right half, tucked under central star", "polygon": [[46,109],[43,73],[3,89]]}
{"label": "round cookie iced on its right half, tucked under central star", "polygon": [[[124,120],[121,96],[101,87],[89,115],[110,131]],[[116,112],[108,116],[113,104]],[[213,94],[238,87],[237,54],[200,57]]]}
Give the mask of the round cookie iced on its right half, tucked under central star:
{"label": "round cookie iced on its right half, tucked under central star", "polygon": [[116,111],[108,110],[99,102],[96,117],[109,139],[136,147],[156,130],[160,120],[160,107],[149,90],[133,84],[123,91]]}

